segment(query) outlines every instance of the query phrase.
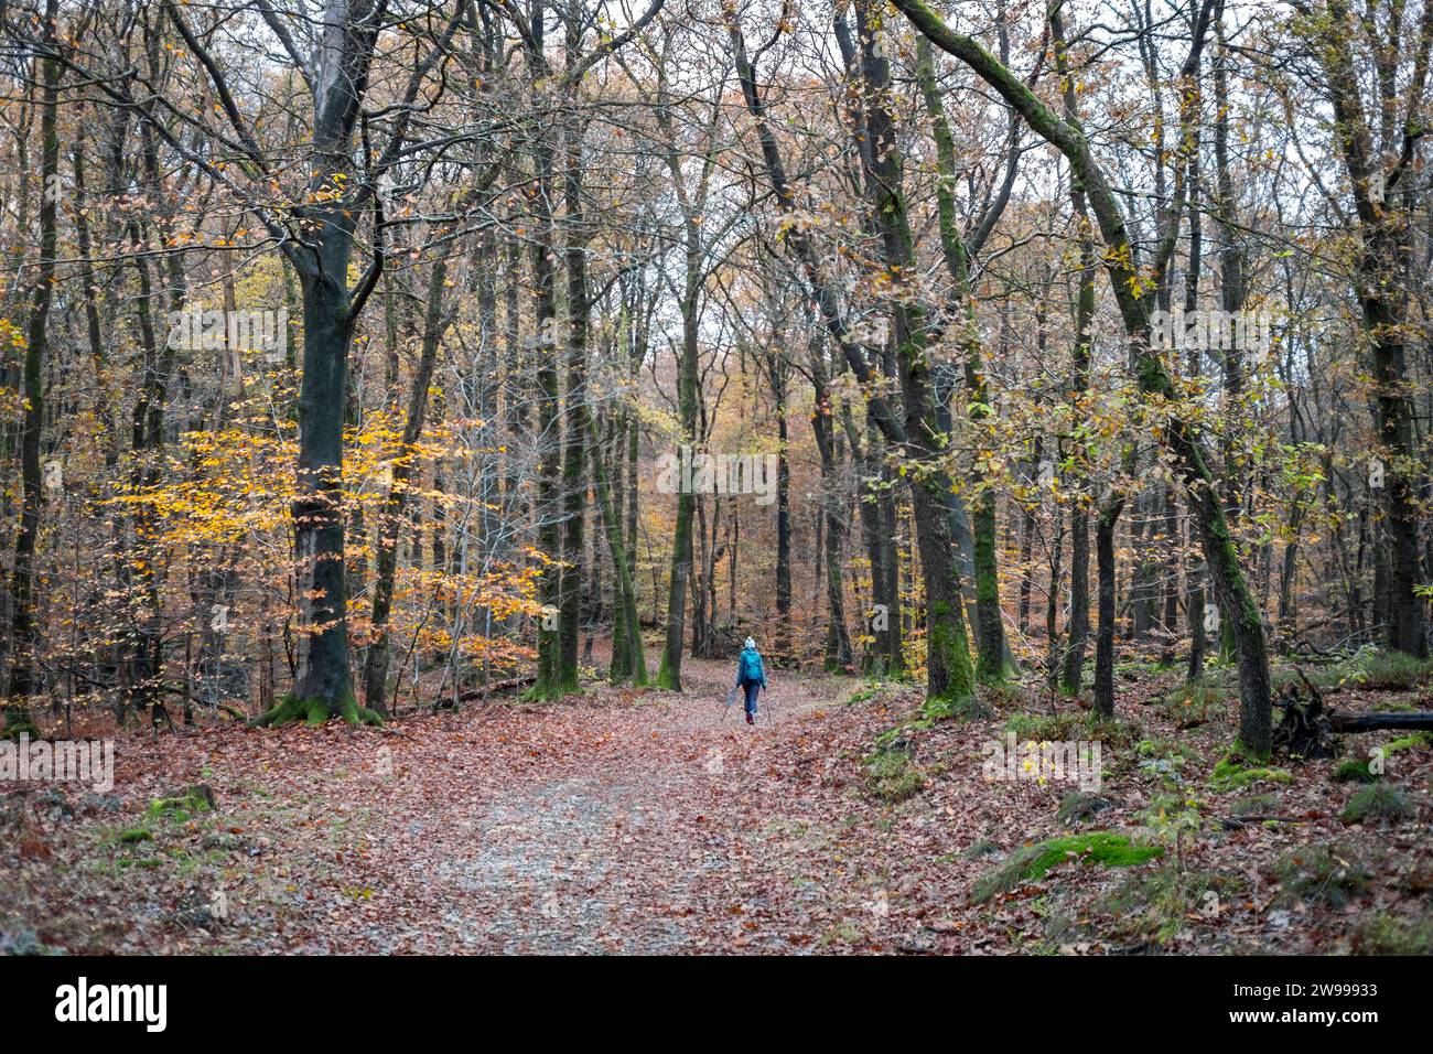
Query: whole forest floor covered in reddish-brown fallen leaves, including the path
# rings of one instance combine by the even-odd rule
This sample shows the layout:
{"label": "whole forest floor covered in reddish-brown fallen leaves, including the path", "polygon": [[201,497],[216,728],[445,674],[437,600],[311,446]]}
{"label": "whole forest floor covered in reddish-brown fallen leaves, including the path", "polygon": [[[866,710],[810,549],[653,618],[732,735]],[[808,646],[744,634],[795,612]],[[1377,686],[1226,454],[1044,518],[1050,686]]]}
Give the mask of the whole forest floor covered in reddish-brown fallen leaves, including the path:
{"label": "whole forest floor covered in reddish-brown fallen leaves, including the path", "polygon": [[[983,771],[1010,720],[1088,731],[1070,703],[1006,690],[931,724],[911,685],[772,670],[748,727],[731,668],[381,730],[119,733],[110,792],[0,793],[0,952],[1433,951],[1423,737],[1346,737],[1399,746],[1393,815],[1344,823],[1363,784],[1337,760],[1221,782],[1237,704],[1161,701],[1174,670],[1121,667],[1080,796]],[[1417,685],[1330,703],[1433,708]],[[198,783],[212,810],[153,804]],[[1026,848],[1048,839],[1070,840]]]}

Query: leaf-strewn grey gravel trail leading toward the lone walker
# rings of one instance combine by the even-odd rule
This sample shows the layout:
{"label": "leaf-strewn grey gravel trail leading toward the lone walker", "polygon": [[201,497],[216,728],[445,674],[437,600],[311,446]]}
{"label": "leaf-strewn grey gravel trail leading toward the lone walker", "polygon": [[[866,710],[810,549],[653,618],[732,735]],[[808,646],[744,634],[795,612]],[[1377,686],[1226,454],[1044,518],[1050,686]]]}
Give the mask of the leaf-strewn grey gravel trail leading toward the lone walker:
{"label": "leaf-strewn grey gravel trail leading toward the lone walker", "polygon": [[[636,714],[589,714],[583,724],[605,740],[600,749],[569,756],[536,786],[514,780],[486,802],[471,832],[400,833],[390,845],[400,856],[426,856],[440,843],[433,892],[453,905],[461,946],[674,952],[705,939],[704,888],[719,888],[734,868],[734,839],[711,833],[691,848],[694,809],[702,809],[696,823],[739,809],[724,790],[742,776],[751,746],[790,734],[823,701],[815,685],[787,680],[762,700],[758,726],[747,727],[739,701],[725,707],[728,667],[688,660],[682,697],[648,701]],[[484,787],[453,790],[481,800]],[[420,934],[403,936],[427,945]]]}

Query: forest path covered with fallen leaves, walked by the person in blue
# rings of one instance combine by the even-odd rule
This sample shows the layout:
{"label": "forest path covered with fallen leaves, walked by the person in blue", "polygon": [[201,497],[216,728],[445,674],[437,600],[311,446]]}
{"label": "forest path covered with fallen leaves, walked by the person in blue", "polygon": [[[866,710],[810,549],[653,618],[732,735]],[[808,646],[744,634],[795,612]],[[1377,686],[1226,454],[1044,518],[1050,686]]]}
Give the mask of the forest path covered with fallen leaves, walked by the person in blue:
{"label": "forest path covered with fallen leaves, walked by the person in blue", "polygon": [[[737,787],[768,751],[787,750],[837,688],[774,674],[780,687],[748,727],[739,700],[725,707],[731,667],[686,660],[682,695],[616,691],[600,707],[492,708],[492,731],[516,747],[489,756],[507,769],[506,790],[492,793],[492,769],[459,774],[450,800],[463,820],[387,830],[396,859],[437,855],[437,866],[423,865],[424,899],[444,905],[433,905],[443,929],[414,919],[380,944],[549,954],[705,946],[711,916],[729,911],[718,903],[728,885],[755,878],[741,833],[761,815],[755,803],[744,809]],[[550,767],[539,740],[563,744]],[[768,898],[758,892],[752,906]]]}

